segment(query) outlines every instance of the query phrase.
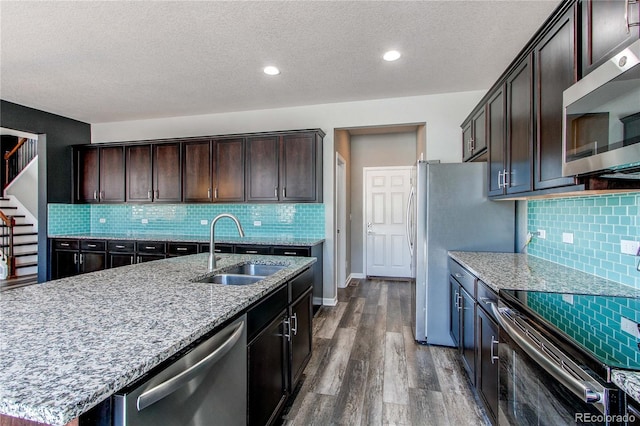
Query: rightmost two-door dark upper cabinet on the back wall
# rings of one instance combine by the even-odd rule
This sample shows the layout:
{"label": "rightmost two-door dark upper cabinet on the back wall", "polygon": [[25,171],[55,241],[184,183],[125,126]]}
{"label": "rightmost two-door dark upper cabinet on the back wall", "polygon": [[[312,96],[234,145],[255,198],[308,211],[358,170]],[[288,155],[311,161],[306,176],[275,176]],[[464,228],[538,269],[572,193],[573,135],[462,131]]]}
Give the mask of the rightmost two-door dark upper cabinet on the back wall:
{"label": "rightmost two-door dark upper cabinet on the back wall", "polygon": [[321,202],[320,132],[247,139],[247,201]]}

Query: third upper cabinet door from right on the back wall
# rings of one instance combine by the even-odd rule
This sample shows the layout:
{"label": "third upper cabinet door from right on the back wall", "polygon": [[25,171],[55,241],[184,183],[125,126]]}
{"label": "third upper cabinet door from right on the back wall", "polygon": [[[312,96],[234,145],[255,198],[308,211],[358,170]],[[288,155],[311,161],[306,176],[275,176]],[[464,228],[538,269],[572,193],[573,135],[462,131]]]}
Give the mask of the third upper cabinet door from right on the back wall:
{"label": "third upper cabinet door from right on the back wall", "polygon": [[244,201],[244,139],[214,141],[214,201]]}

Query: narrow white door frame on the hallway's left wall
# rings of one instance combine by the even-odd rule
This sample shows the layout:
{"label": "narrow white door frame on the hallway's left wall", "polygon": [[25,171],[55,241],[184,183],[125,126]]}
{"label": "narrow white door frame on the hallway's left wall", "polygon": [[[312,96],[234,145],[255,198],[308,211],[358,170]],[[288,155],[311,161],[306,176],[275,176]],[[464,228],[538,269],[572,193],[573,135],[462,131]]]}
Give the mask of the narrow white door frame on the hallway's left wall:
{"label": "narrow white door frame on the hallway's left wall", "polygon": [[347,163],[345,159],[336,152],[336,283],[338,288],[347,286]]}

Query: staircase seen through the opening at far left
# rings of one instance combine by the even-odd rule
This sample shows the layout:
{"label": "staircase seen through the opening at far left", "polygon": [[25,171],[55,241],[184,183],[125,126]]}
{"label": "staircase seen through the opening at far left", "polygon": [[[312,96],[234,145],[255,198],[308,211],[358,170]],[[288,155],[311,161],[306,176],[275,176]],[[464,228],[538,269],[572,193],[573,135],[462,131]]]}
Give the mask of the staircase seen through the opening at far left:
{"label": "staircase seen through the opening at far left", "polygon": [[[27,278],[38,273],[38,229],[36,225],[27,221],[21,214],[16,203],[9,198],[0,198],[0,211],[6,216],[13,216],[13,255],[15,258],[14,275]],[[0,221],[0,235],[6,235],[7,225]],[[0,250],[7,252],[9,242],[7,238],[0,238]]]}

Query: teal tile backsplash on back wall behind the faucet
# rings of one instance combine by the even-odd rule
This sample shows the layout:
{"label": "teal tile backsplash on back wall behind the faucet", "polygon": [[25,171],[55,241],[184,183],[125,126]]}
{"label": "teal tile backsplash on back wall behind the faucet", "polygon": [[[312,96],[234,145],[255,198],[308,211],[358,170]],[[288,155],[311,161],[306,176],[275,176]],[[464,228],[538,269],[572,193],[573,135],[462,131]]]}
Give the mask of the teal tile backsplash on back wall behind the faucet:
{"label": "teal tile backsplash on back wall behind the faucet", "polygon": [[[324,238],[323,204],[50,204],[49,234],[167,234],[207,237],[220,213],[238,217],[247,237]],[[78,226],[65,216],[74,217]],[[202,221],[205,221],[203,224]],[[236,237],[231,220],[216,225],[219,237]]]}

